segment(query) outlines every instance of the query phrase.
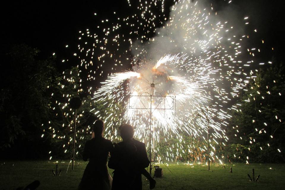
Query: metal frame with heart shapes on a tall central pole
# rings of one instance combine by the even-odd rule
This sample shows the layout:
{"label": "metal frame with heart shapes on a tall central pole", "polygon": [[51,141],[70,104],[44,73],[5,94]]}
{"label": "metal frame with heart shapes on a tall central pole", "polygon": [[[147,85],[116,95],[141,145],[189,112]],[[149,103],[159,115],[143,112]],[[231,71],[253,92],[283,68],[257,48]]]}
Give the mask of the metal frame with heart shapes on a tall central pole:
{"label": "metal frame with heart shapes on a tall central pole", "polygon": [[[153,88],[154,87],[154,84],[152,83],[151,84],[151,88],[152,88],[152,92],[153,92]],[[143,94],[147,94],[147,95],[143,95]],[[156,95],[157,94],[157,95]],[[130,99],[132,97],[140,97],[140,102],[142,103],[143,107],[133,107],[130,105]],[[142,102],[141,100],[141,97],[150,97],[150,108],[147,108],[144,103]],[[162,97],[161,101],[156,105],[155,108],[152,107],[152,101],[154,100],[153,97]],[[165,108],[165,100],[167,99],[167,97],[170,97],[172,99],[172,103],[170,103],[170,107],[169,108]],[[159,105],[162,103],[162,101],[164,100],[164,108],[158,108]],[[152,138],[153,138],[153,134],[152,134],[152,113],[155,111],[155,110],[164,110],[164,115],[165,115],[165,110],[174,110],[174,116],[175,116],[175,112],[176,112],[176,96],[163,96],[162,94],[158,93],[158,92],[154,92],[153,94],[149,94],[148,92],[143,92],[141,95],[131,95],[129,97],[129,104],[128,104],[128,108],[129,109],[144,109],[144,110],[147,110],[148,113],[150,114],[150,127],[149,127],[149,161],[150,161],[150,169],[149,169],[149,173],[151,175],[151,171],[152,171],[152,163],[154,162],[158,162],[158,161],[161,161],[161,160],[154,160],[154,158],[152,158],[152,153],[155,154],[157,156],[157,154],[153,151],[153,147],[152,145],[154,145],[154,143],[152,143]],[[154,155],[153,155],[154,157]],[[157,156],[158,157],[158,156]],[[164,163],[163,163],[164,164]],[[165,164],[164,164],[165,165]],[[166,165],[165,165],[166,166]],[[166,166],[167,167],[167,166]],[[167,167],[168,169],[168,167]],[[168,169],[169,170],[169,169]],[[170,171],[171,172],[171,171]]]}

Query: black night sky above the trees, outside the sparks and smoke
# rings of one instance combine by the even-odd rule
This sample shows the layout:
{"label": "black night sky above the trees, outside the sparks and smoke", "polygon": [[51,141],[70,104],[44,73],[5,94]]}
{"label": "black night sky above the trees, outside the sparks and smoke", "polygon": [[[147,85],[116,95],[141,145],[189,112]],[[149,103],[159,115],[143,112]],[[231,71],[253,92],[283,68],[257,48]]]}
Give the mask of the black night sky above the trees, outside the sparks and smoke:
{"label": "black night sky above the trees, outside the sparks and smoke", "polygon": [[[233,1],[230,9],[223,1],[203,0],[202,3],[209,5],[208,2],[213,2],[218,12],[232,15],[229,20],[233,22],[238,17],[236,20],[249,16],[252,27],[258,30],[255,41],[264,39],[268,47],[265,58],[270,59],[273,55],[282,57],[285,42],[282,1],[239,0]],[[168,7],[172,3],[172,0],[166,1]],[[136,11],[134,7],[130,8],[127,0],[9,1],[1,10],[1,53],[7,52],[11,45],[26,43],[41,50],[45,58],[56,52],[58,60],[61,60],[73,53],[72,48],[78,44],[78,31],[92,28],[102,19],[129,15],[129,12]],[[166,11],[168,14],[169,10]],[[65,45],[69,45],[70,49]],[[270,51],[271,47],[275,52]]]}

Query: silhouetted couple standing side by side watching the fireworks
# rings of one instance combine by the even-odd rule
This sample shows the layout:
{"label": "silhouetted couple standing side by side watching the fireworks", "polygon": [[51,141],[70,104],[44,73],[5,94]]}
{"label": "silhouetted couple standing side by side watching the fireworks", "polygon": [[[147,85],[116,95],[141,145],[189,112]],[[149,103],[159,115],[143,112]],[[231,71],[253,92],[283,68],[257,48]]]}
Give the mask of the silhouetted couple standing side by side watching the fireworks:
{"label": "silhouetted couple standing side by side watching the fireworks", "polygon": [[[143,174],[150,181],[150,189],[155,187],[155,180],[145,170],[149,165],[145,144],[133,139],[134,128],[129,124],[119,127],[122,142],[114,146],[110,140],[102,137],[104,122],[96,120],[92,139],[84,147],[83,160],[89,163],[83,173],[78,189],[140,190]],[[108,154],[111,157],[108,167],[114,169],[113,183],[107,170]]]}

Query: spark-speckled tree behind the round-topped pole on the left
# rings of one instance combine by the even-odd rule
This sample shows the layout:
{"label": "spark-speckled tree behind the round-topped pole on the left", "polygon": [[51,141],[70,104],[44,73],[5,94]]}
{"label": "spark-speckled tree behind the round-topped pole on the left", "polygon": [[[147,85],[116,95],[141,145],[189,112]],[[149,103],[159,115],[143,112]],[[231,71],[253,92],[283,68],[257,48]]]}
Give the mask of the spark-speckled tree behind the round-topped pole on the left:
{"label": "spark-speckled tree behind the round-topped pole on the left", "polygon": [[[91,126],[96,119],[106,120],[107,113],[113,113],[109,107],[110,101],[103,104],[95,101],[91,96],[85,97],[81,87],[80,70],[77,67],[66,69],[50,88],[50,120],[43,123],[43,140],[50,140],[50,155],[55,158],[68,159],[73,150],[75,110],[70,105],[73,97],[80,97],[81,106],[76,110],[76,153],[83,152],[85,142],[91,138]],[[120,107],[119,104],[117,104]],[[92,112],[91,112],[92,110]],[[97,112],[97,115],[94,113]],[[113,113],[109,118],[113,122],[119,120],[120,112]],[[105,122],[105,128],[109,127]],[[115,132],[115,128],[113,132]],[[106,138],[114,137],[105,134]],[[114,140],[114,139],[111,139]]]}

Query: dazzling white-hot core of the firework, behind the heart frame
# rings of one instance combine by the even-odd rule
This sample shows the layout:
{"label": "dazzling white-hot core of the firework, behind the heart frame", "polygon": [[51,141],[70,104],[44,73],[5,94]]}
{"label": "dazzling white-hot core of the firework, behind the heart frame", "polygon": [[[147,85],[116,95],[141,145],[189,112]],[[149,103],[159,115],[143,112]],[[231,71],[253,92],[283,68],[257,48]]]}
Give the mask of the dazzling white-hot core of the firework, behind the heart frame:
{"label": "dazzling white-hot core of the firework, behind the heart frame", "polygon": [[146,142],[150,134],[158,142],[161,136],[172,138],[172,134],[182,130],[200,136],[205,126],[203,122],[196,124],[193,118],[200,107],[208,105],[211,98],[205,91],[206,85],[213,81],[210,76],[217,70],[203,67],[205,63],[201,62],[185,72],[186,61],[189,62],[186,55],[164,55],[154,67],[145,64],[136,72],[114,73],[94,98],[101,100],[107,96],[122,102],[123,122],[136,126],[135,136]]}

